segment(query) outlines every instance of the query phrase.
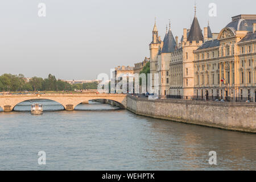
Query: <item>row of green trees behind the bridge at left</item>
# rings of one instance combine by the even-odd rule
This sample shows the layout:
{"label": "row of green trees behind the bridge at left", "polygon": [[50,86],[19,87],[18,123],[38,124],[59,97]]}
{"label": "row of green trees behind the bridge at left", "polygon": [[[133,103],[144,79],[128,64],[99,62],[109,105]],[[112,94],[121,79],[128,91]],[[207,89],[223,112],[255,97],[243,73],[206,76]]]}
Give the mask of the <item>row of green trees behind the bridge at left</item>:
{"label": "row of green trees behind the bridge at left", "polygon": [[98,83],[69,84],[68,82],[56,79],[49,74],[47,78],[32,77],[26,81],[24,75],[3,74],[0,76],[1,92],[24,92],[24,91],[72,91],[82,89],[97,89]]}

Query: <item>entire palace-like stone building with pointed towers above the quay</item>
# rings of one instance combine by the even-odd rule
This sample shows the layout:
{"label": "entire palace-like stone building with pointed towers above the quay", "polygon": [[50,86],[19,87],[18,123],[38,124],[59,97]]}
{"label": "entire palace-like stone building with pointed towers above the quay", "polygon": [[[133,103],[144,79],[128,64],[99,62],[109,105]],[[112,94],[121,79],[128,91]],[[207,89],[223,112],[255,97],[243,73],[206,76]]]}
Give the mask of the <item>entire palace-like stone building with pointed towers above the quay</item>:
{"label": "entire palace-like stone building with pointed towers above the quay", "polygon": [[[159,95],[255,102],[256,15],[234,16],[217,34],[209,22],[203,29],[196,11],[180,42],[177,36],[174,40],[171,28],[161,41],[154,25],[150,71],[159,76]],[[151,84],[155,86],[154,76]]]}

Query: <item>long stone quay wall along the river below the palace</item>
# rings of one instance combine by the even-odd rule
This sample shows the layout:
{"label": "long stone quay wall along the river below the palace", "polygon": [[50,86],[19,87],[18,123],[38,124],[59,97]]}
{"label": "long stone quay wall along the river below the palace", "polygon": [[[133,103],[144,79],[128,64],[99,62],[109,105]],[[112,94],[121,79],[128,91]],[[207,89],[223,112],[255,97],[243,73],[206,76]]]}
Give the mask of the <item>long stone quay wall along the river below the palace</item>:
{"label": "long stone quay wall along the river below the palace", "polygon": [[135,114],[220,129],[256,133],[255,102],[216,102],[127,96]]}

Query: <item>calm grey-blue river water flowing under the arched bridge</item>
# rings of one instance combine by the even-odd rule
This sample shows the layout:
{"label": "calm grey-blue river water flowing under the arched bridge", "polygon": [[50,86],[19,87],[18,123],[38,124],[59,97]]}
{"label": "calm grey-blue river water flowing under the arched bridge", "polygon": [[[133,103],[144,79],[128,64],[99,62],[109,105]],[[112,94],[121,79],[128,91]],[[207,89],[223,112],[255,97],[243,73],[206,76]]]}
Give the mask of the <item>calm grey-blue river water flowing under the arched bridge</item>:
{"label": "calm grey-blue river water flowing under the arched bridge", "polygon": [[[90,101],[0,111],[0,170],[256,170],[256,135],[135,115]],[[39,151],[46,165],[39,165]],[[208,155],[216,151],[217,165]]]}

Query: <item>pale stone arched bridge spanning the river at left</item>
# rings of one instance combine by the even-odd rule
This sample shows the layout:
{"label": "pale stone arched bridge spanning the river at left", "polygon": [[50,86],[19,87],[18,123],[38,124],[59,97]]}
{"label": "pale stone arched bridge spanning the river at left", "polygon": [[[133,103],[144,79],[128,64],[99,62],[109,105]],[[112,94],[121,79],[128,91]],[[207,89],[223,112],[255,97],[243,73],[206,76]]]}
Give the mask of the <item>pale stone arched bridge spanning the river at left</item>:
{"label": "pale stone arched bridge spanning the river at left", "polygon": [[52,100],[63,105],[65,110],[73,110],[82,102],[89,100],[106,99],[118,102],[122,108],[126,108],[126,94],[105,93],[39,93],[39,94],[0,94],[0,107],[3,111],[13,111],[14,107],[28,100]]}

